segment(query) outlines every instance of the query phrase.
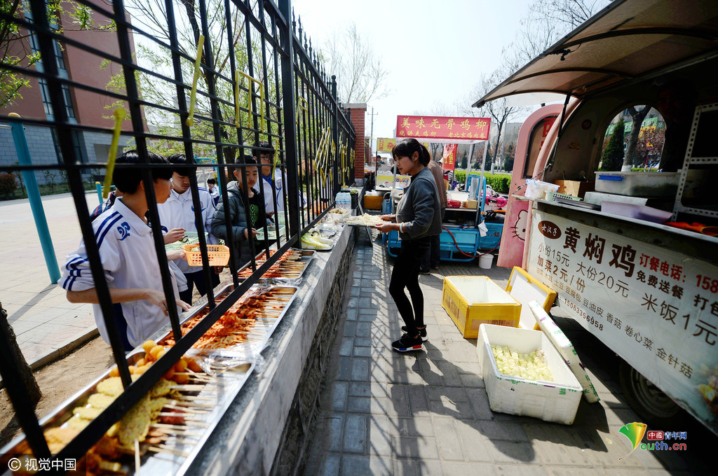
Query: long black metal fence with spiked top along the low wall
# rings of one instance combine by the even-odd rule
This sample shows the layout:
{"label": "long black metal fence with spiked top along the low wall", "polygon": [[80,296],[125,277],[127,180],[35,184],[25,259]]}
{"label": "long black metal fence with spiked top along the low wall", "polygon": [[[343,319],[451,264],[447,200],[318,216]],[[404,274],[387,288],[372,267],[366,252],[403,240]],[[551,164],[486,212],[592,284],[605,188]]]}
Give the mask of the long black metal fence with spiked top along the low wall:
{"label": "long black metal fence with spiked top along the low wall", "polygon": [[[90,23],[81,27],[88,35],[92,30],[92,34],[111,36],[116,48],[98,47],[78,32],[66,34],[63,23],[70,23],[68,15],[73,12],[62,11],[62,5],[69,8],[64,3],[59,4],[59,11],[50,11],[48,3],[58,6],[37,0],[24,4],[27,11],[22,11],[23,4],[19,3],[17,11],[5,8],[0,12],[1,27],[11,32],[6,41],[26,42],[24,46],[29,46],[34,59],[39,59],[34,65],[27,60],[4,60],[0,67],[4,75],[34,77],[39,81],[47,117],[22,118],[22,123],[51,128],[58,164],[0,166],[0,172],[55,169],[62,171],[63,176],[66,174],[113,354],[126,388],[56,455],[62,460],[84,454],[276,262],[281,252],[299,246],[302,234],[332,206],[340,186],[353,181],[355,133],[337,103],[335,77],[331,80],[327,77],[317,54],[307,47],[306,34],[301,24],[297,29],[289,0],[280,1],[279,6],[268,0],[77,0],[77,8],[73,8],[74,14],[79,15],[72,19],[86,22],[88,16],[83,16],[83,12],[88,12]],[[93,67],[116,72],[106,87],[67,74],[65,55],[78,51],[92,58]],[[197,57],[200,67],[195,69]],[[192,80],[197,82],[196,90]],[[148,151],[162,155],[181,152],[187,157],[213,156],[215,163],[199,163],[197,171],[204,176],[216,171],[225,204],[229,178],[234,171],[243,170],[243,156],[254,155],[253,149],[260,143],[270,146],[260,149],[276,151],[277,172],[272,172],[283,184],[279,194],[272,197],[274,209],[281,209],[274,217],[276,239],[271,243],[279,252],[271,256],[268,253],[266,262],[259,267],[251,260],[254,272],[243,282],[238,281],[235,260],[230,259],[235,290],[220,303],[215,302],[209,290],[210,313],[182,338],[157,201],[151,193],[153,178],[147,168],[139,167],[167,298],[168,323],[177,343],[134,383],[113,318],[83,187],[83,178],[88,173],[103,175],[107,163],[88,162],[83,157],[83,145],[78,143],[78,132],[109,134],[113,130],[109,123],[100,127],[78,120],[73,107],[77,97],[105,105],[108,117],[113,110],[124,110],[127,120],[122,135],[145,160]],[[194,103],[192,114],[191,103]],[[2,123],[19,120],[0,115]],[[243,173],[241,180],[243,190],[247,190]],[[213,271],[205,247],[197,177],[190,175],[190,182],[205,281],[210,282]],[[258,188],[264,198],[261,186]],[[244,199],[248,199],[246,192]],[[225,226],[227,244],[234,253],[228,217]],[[264,234],[269,236],[266,225]],[[249,242],[253,256],[266,250],[266,242],[251,237]],[[4,341],[0,341],[0,346],[6,348],[7,336],[1,338]],[[7,361],[5,353],[2,356],[3,380],[30,447],[36,457],[50,457],[42,429],[27,404],[26,391],[17,384],[16,367]]]}

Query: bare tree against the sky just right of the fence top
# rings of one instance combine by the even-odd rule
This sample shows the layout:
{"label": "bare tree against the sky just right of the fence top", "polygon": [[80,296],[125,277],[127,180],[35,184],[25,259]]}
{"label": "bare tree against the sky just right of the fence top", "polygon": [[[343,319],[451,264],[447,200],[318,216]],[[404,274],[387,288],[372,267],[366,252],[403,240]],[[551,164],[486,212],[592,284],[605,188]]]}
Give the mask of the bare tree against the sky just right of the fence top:
{"label": "bare tree against the sky just right of the fence top", "polygon": [[381,58],[363,38],[355,23],[335,30],[321,48],[330,74],[337,75],[337,96],[342,103],[368,103],[388,95]]}

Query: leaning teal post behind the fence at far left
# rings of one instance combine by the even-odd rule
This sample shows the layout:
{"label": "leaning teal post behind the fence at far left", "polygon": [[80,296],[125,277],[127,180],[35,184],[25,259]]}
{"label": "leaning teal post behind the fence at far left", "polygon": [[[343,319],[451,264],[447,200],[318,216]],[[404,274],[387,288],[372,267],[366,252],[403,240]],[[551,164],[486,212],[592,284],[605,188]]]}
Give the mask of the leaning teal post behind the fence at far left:
{"label": "leaning teal post behind the fence at far left", "polygon": [[[16,113],[10,113],[11,118],[20,118]],[[27,138],[25,138],[24,126],[19,121],[10,123],[12,128],[12,141],[15,143],[17,158],[21,166],[32,166],[30,158],[30,150],[27,147]],[[42,254],[45,254],[45,266],[47,273],[50,275],[50,282],[53,284],[60,281],[60,267],[57,266],[57,257],[55,256],[55,248],[52,247],[52,238],[50,237],[50,229],[47,228],[47,218],[45,217],[45,209],[42,208],[42,200],[40,199],[40,189],[37,186],[35,173],[32,170],[24,170],[21,172],[25,181],[25,189],[27,189],[27,199],[32,209],[32,218],[37,228],[37,236],[42,246]]]}

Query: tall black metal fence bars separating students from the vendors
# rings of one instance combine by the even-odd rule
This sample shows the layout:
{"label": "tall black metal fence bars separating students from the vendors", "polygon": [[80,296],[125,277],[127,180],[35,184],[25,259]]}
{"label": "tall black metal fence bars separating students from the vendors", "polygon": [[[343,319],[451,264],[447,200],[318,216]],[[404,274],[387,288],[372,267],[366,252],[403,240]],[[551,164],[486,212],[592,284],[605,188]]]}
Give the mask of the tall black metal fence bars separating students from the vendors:
{"label": "tall black metal fence bars separating students from the vendors", "polygon": [[[279,6],[271,0],[258,0],[254,5],[249,0],[224,0],[218,2],[219,8],[224,11],[212,12],[218,13],[218,18],[225,19],[225,27],[227,28],[226,47],[221,45],[222,52],[228,54],[229,72],[225,65],[215,64],[215,52],[213,47],[220,49],[221,41],[217,37],[213,37],[214,30],[210,28],[208,23],[208,6],[206,0],[197,1],[197,11],[199,24],[197,24],[197,16],[188,15],[187,18],[180,18],[180,22],[195,22],[193,34],[196,37],[200,31],[205,36],[204,60],[202,62],[202,72],[206,80],[201,87],[197,88],[196,95],[202,101],[202,108],[197,110],[194,115],[195,122],[211,128],[211,133],[205,135],[205,130],[199,128],[187,127],[185,120],[188,118],[187,110],[187,91],[191,90],[191,86],[185,82],[183,76],[183,68],[186,68],[188,62],[193,62],[194,58],[190,57],[182,49],[180,37],[177,35],[179,25],[178,17],[174,12],[174,8],[186,8],[190,6],[187,2],[182,4],[177,1],[165,0],[164,6],[166,11],[164,17],[160,19],[160,24],[167,24],[167,41],[164,38],[154,37],[151,32],[143,31],[136,27],[126,19],[125,1],[113,0],[111,6],[108,4],[95,4],[90,0],[78,0],[78,3],[90,6],[94,11],[103,14],[108,19],[112,19],[116,24],[116,31],[107,32],[113,35],[119,46],[119,54],[103,51],[93,44],[85,44],[79,39],[65,37],[50,27],[47,21],[46,3],[44,1],[30,2],[32,8],[32,21],[27,21],[19,17],[9,15],[1,15],[3,21],[11,22],[29,29],[29,33],[37,38],[39,52],[42,57],[43,70],[31,70],[28,67],[20,67],[14,65],[1,65],[4,69],[14,72],[21,72],[28,77],[37,77],[47,82],[47,90],[50,92],[49,102],[54,111],[52,120],[39,120],[27,118],[25,123],[39,126],[50,126],[57,129],[57,140],[59,143],[59,152],[62,154],[62,163],[52,165],[19,165],[19,166],[0,166],[2,171],[21,171],[29,172],[37,170],[62,170],[67,172],[68,183],[73,194],[75,209],[80,222],[80,230],[83,234],[85,247],[88,254],[88,262],[90,271],[95,282],[95,290],[98,296],[98,302],[103,314],[106,328],[108,330],[109,341],[113,350],[113,356],[118,364],[118,372],[126,386],[126,390],[116,399],[103,413],[91,422],[88,427],[83,429],[78,437],[73,439],[67,447],[57,455],[58,459],[69,457],[70,455],[84,454],[105,432],[116,422],[130,406],[139,401],[141,396],[146,394],[151,386],[153,386],[164,373],[184,354],[192,345],[225,313],[230,305],[238,300],[246,290],[258,280],[269,267],[279,260],[281,254],[286,252],[289,247],[298,245],[302,233],[307,232],[324,214],[327,212],[332,202],[332,195],[338,187],[338,150],[340,143],[345,141],[348,145],[353,146],[354,132],[349,120],[341,112],[336,100],[335,85],[327,85],[327,77],[317,62],[316,55],[307,45],[304,47],[301,43],[302,29],[299,27],[299,37],[295,32],[296,24],[290,22],[292,18],[292,10],[289,0],[281,0]],[[223,5],[223,7],[222,7]],[[191,3],[195,8],[195,3]],[[110,10],[111,9],[111,10]],[[233,16],[236,12],[236,24]],[[243,24],[243,32],[238,33],[234,29]],[[131,34],[137,34],[151,40],[152,44],[161,49],[161,54],[171,57],[171,67],[167,70],[158,68],[153,70],[151,67],[139,65],[139,59],[134,57],[131,50]],[[241,42],[236,44],[241,35],[245,35],[246,44]],[[123,91],[103,90],[96,85],[84,84],[80,80],[73,80],[68,77],[61,77],[57,68],[57,57],[55,53],[55,42],[65,42],[72,47],[94,54],[98,59],[107,59],[116,63],[123,68],[121,78],[123,80]],[[268,51],[269,48],[269,51]],[[259,52],[260,54],[257,54]],[[238,58],[246,57],[247,62],[241,63]],[[169,62],[168,62],[169,65]],[[236,72],[245,71],[247,68],[249,75],[253,77],[261,77],[261,83],[264,87],[264,94],[258,93],[256,88],[243,87],[239,85],[240,91],[246,91],[250,98],[252,108],[240,108],[241,115],[248,117],[246,124],[240,127],[232,123],[225,115],[228,109],[234,108],[235,104],[240,102],[239,97],[234,97],[233,92],[226,93],[228,88],[235,90]],[[176,95],[176,103],[162,102],[157,97],[151,95],[142,95],[138,81],[159,81],[162,87],[169,88]],[[148,204],[149,222],[151,224],[155,252],[160,267],[160,275],[162,277],[162,286],[165,298],[167,300],[167,308],[169,310],[169,321],[174,334],[175,345],[167,354],[155,362],[139,379],[131,384],[129,368],[121,343],[121,335],[116,323],[111,300],[111,290],[105,279],[101,256],[98,244],[95,242],[93,225],[90,222],[90,216],[87,212],[87,203],[85,201],[85,191],[83,188],[82,174],[85,170],[101,169],[106,167],[106,163],[83,163],[76,152],[76,148],[81,144],[78,143],[79,135],[75,132],[95,132],[108,133],[108,128],[97,125],[83,125],[70,123],[67,108],[71,104],[67,103],[65,90],[83,90],[110,100],[118,100],[129,108],[131,115],[131,131],[123,131],[124,136],[131,136],[136,142],[136,148],[139,156],[147,161],[147,152],[162,146],[162,144],[153,144],[152,141],[162,140],[168,146],[169,144],[181,144],[187,157],[195,156],[195,154],[203,153],[207,150],[207,146],[213,148],[216,156],[216,164],[197,164],[197,170],[206,170],[210,167],[218,168],[218,181],[222,192],[222,199],[228,204],[228,175],[232,171],[244,171],[243,164],[236,163],[236,158],[246,151],[246,147],[258,145],[260,138],[266,137],[267,141],[276,149],[275,153],[278,158],[277,170],[282,176],[283,187],[281,191],[281,205],[284,209],[282,214],[285,216],[286,238],[281,239],[279,233],[276,238],[277,252],[271,257],[257,266],[252,258],[251,267],[255,272],[241,285],[238,282],[238,270],[234,265],[234,260],[230,260],[230,272],[235,285],[235,289],[230,295],[220,303],[214,303],[212,291],[208,292],[208,302],[210,303],[210,312],[200,321],[185,337],[182,337],[180,330],[180,320],[177,315],[177,307],[174,301],[174,290],[172,280],[167,268],[167,255],[164,250],[164,240],[160,229],[159,212],[157,209],[157,200],[154,196],[154,181],[149,170],[144,164],[118,164],[118,168],[140,168],[142,181],[146,191],[146,200]],[[240,93],[242,94],[242,93]],[[70,95],[67,95],[70,97]],[[302,97],[307,108],[297,114],[297,100]],[[258,110],[257,105],[261,108]],[[264,110],[264,118],[259,112]],[[223,112],[224,111],[224,112]],[[157,132],[149,130],[146,123],[149,114],[167,114],[169,119],[167,123],[169,132]],[[158,116],[159,117],[159,116]],[[163,118],[165,116],[162,116]],[[230,116],[232,117],[232,116]],[[3,118],[5,119],[5,118]],[[11,118],[9,121],[13,121]],[[179,124],[177,124],[179,121]],[[325,132],[330,127],[330,133]],[[320,143],[324,137],[325,145],[323,146],[324,156],[318,157],[320,151]],[[245,138],[252,138],[253,144],[245,144]],[[335,147],[330,148],[331,142]],[[327,142],[328,141],[328,142]],[[327,149],[330,149],[327,151]],[[322,163],[317,160],[322,160]],[[317,166],[322,165],[325,168],[326,176],[320,178],[317,172]],[[258,164],[261,167],[261,164]],[[161,166],[172,167],[172,166]],[[344,171],[342,170],[343,174]],[[286,180],[284,179],[286,176]],[[248,200],[246,191],[246,177],[241,173],[241,181],[244,185],[242,199]],[[201,218],[200,195],[198,191],[197,177],[190,174],[190,189],[192,203],[195,206],[195,221],[197,223],[197,231],[200,237],[200,247],[202,249],[202,264],[205,280],[210,282],[210,266],[208,253],[206,250],[206,242],[204,228]],[[264,194],[264,192],[261,192]],[[301,195],[300,195],[301,194]],[[302,207],[301,200],[306,194],[306,206]],[[269,197],[268,197],[269,198]],[[277,229],[279,229],[279,208],[276,194],[271,197],[277,213]],[[235,253],[233,247],[233,238],[231,233],[231,224],[229,214],[225,214],[225,229],[228,232],[228,245],[230,253]],[[265,232],[267,232],[265,226]],[[254,251],[255,245],[266,247],[267,242],[258,243],[254,239],[249,239],[251,249]],[[256,253],[252,252],[255,257]],[[6,336],[2,336],[6,339]],[[0,342],[3,340],[0,340]],[[2,356],[7,360],[6,356]],[[5,370],[5,361],[3,368]],[[11,365],[11,363],[9,363]],[[49,454],[47,444],[39,432],[37,420],[32,417],[32,409],[27,406],[27,394],[19,386],[17,381],[6,379],[6,386],[9,387],[9,395],[13,404],[16,406],[19,415],[19,421],[22,424],[24,432],[27,435],[28,442],[36,456],[42,457]],[[28,411],[30,410],[30,411]]]}

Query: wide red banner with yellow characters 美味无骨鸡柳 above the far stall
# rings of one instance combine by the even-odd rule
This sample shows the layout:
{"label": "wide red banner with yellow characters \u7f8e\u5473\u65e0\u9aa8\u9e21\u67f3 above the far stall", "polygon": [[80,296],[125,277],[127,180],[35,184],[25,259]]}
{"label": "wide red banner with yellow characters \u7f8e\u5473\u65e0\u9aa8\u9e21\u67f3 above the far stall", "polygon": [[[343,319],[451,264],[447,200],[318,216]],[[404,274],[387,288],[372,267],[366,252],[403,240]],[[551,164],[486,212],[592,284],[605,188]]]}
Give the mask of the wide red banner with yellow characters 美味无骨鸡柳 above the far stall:
{"label": "wide red banner with yellow characters \u7f8e\u5473\u65e0\u9aa8\u9e21\u67f3 above the far stall", "polygon": [[396,137],[432,139],[463,139],[486,141],[491,118],[447,118],[434,115],[396,116]]}

